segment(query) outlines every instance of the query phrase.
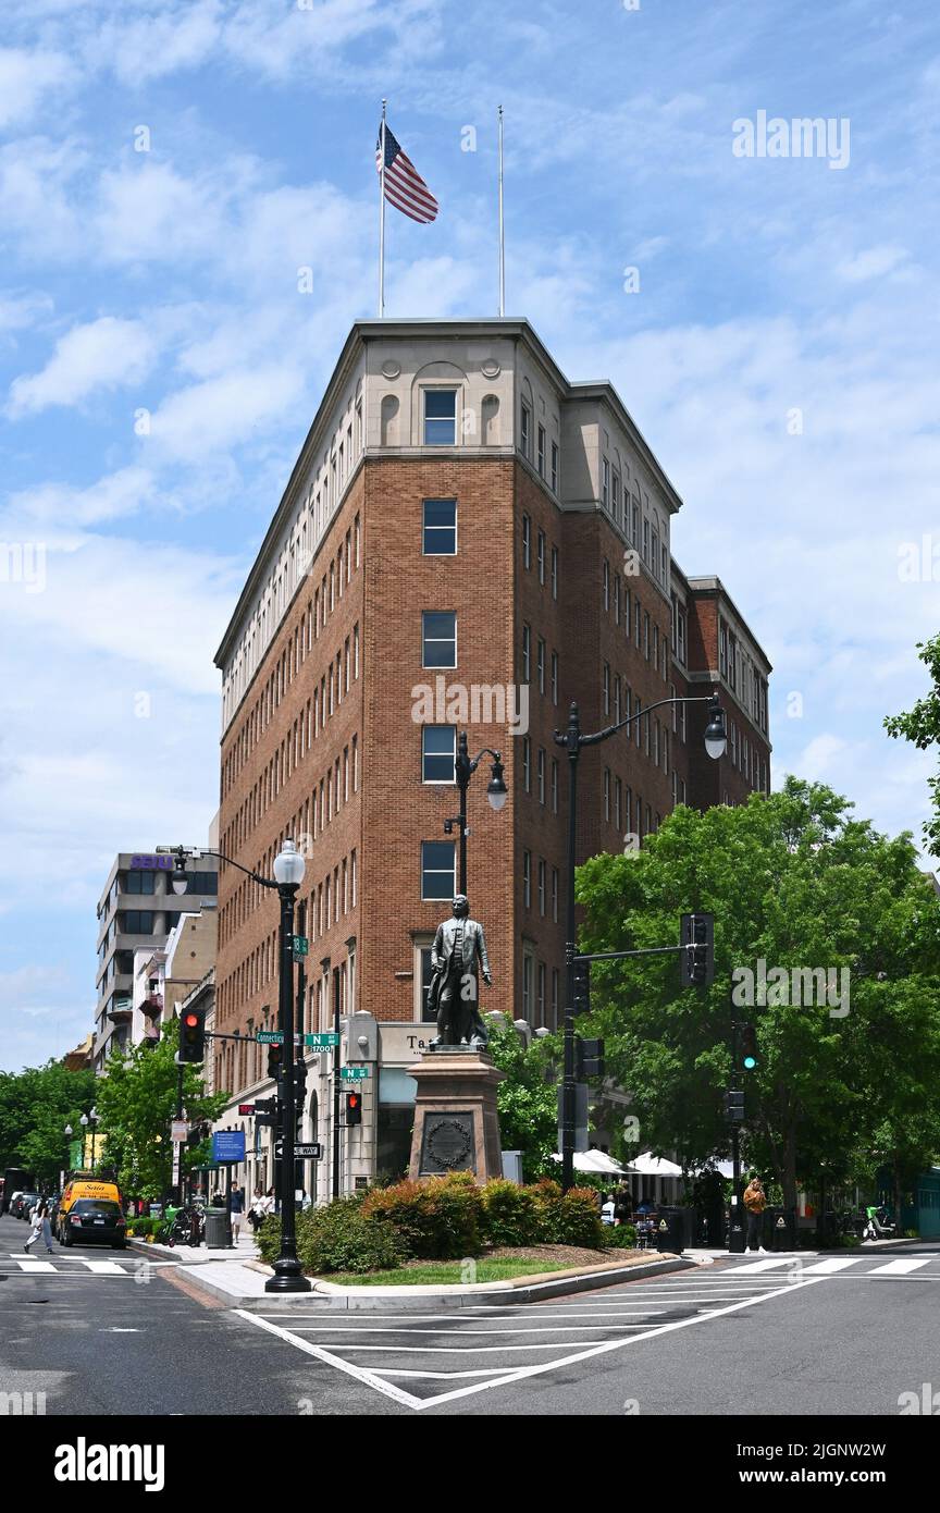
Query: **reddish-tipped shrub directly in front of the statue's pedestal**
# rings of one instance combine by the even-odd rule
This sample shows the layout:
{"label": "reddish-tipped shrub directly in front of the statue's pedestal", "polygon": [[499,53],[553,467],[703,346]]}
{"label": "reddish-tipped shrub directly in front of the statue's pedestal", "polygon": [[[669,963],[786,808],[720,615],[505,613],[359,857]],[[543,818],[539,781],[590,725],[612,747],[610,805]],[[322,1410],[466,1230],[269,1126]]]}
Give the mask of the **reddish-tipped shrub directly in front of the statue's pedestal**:
{"label": "reddish-tipped shrub directly in front of the statue's pedestal", "polygon": [[468,1171],[372,1188],[363,1210],[390,1226],[408,1256],[458,1260],[481,1247],[484,1204]]}

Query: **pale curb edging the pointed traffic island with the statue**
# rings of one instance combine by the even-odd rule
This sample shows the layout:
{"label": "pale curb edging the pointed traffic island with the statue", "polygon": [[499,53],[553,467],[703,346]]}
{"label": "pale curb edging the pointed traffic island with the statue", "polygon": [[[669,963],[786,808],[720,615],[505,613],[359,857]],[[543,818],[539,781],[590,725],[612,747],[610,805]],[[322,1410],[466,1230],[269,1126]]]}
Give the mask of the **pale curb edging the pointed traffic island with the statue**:
{"label": "pale curb edging the pointed traffic island with the statue", "polygon": [[[209,1277],[190,1274],[195,1288],[204,1288],[213,1297],[222,1298],[233,1309],[246,1312],[263,1312],[277,1306],[280,1309],[316,1309],[317,1313],[426,1313],[450,1312],[473,1307],[517,1307],[523,1303],[541,1303],[544,1298],[568,1297],[573,1292],[594,1292],[598,1288],[620,1286],[623,1282],[639,1282],[644,1277],[657,1277],[671,1271],[691,1271],[697,1262],[685,1260],[680,1256],[671,1260],[642,1262],[633,1266],[605,1266],[597,1271],[568,1271],[564,1275],[552,1275],[552,1280],[526,1282],[518,1278],[521,1286],[511,1286],[505,1282],[479,1282],[468,1286],[443,1285],[440,1288],[337,1288],[335,1283],[316,1283],[313,1292],[278,1294],[257,1292],[240,1297],[230,1292]],[[546,1274],[543,1272],[543,1277]],[[329,1291],[320,1291],[329,1288]]]}

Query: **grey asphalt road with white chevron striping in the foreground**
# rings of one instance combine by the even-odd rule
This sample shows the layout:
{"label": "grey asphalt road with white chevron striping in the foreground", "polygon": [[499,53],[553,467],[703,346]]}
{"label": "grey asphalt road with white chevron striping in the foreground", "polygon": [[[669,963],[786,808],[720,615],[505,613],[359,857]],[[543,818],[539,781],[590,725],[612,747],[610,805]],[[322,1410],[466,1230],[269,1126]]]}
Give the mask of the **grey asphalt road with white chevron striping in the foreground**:
{"label": "grey asphalt road with white chevron striping in the foreground", "polygon": [[0,1219],[0,1390],[45,1392],[48,1415],[898,1416],[940,1389],[940,1245],[376,1315],[242,1312],[175,1262],[27,1260],[27,1233]]}

